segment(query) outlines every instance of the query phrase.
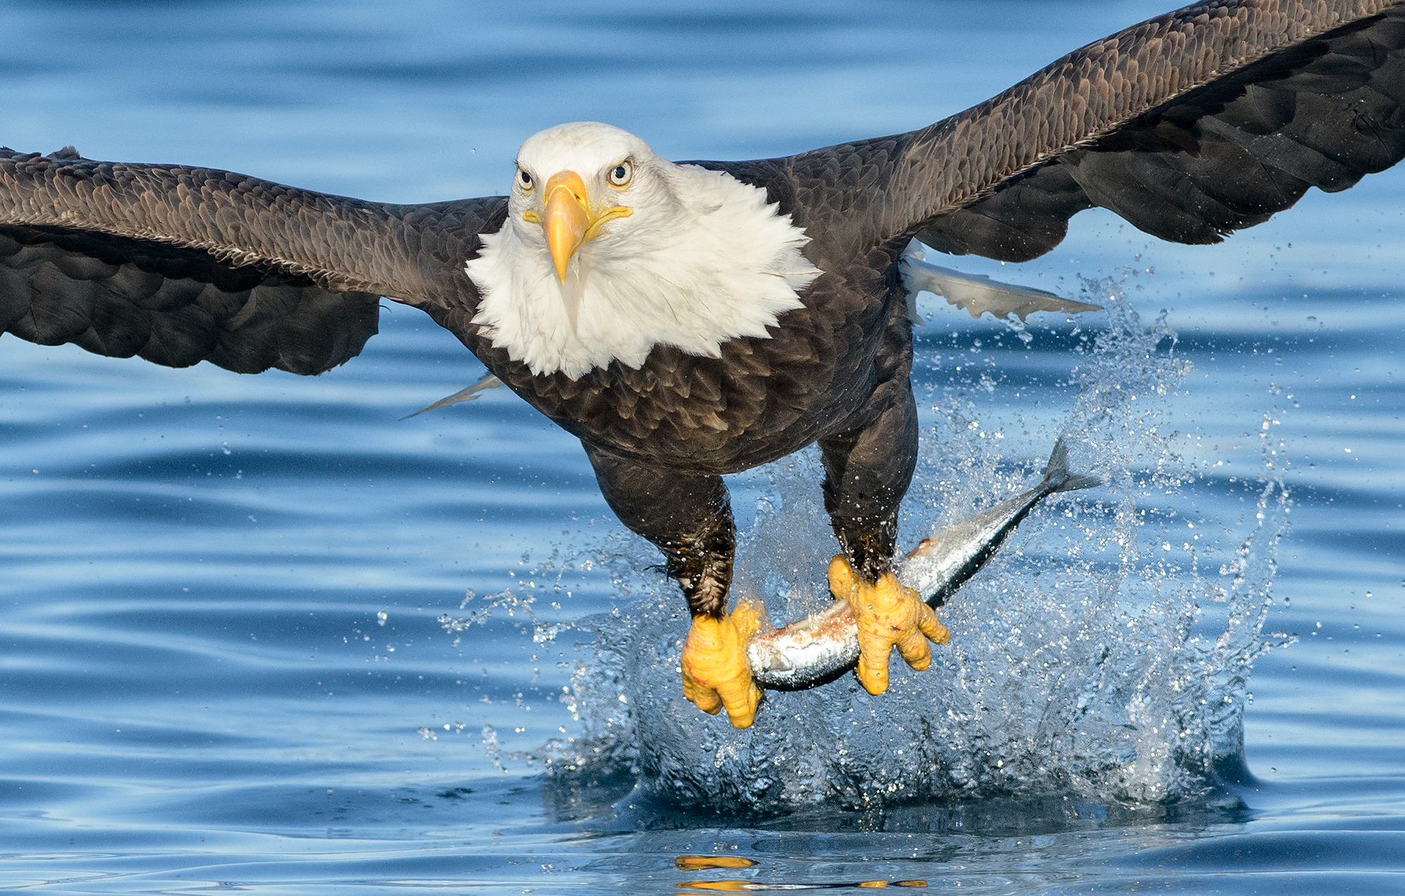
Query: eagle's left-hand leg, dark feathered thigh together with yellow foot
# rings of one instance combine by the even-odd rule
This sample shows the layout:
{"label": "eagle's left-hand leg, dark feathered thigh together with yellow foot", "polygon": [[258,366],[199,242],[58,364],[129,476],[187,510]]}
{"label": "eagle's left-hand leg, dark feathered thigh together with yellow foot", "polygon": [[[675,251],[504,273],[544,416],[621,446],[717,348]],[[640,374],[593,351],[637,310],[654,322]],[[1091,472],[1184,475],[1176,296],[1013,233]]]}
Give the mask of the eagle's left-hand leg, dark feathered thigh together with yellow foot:
{"label": "eagle's left-hand leg, dark feathered thigh together with yellow foot", "polygon": [[693,626],[683,642],[683,695],[698,709],[726,715],[736,727],[756,719],[762,691],[752,683],[746,642],[760,628],[760,607],[728,614],[736,524],[721,476],[690,476],[628,461],[586,445],[606,503],[620,521],[663,552],[683,588]]}

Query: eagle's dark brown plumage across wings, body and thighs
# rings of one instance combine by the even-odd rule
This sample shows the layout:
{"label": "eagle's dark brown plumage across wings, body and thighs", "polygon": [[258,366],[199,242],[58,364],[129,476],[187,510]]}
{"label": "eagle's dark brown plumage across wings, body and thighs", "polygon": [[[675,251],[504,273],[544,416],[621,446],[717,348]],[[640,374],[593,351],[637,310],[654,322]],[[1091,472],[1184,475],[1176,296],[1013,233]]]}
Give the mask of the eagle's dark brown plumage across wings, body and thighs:
{"label": "eagle's dark brown plumage across wings, body and thighs", "polygon": [[[0,150],[0,331],[107,355],[318,374],[414,305],[576,434],[606,497],[719,614],[732,531],[719,473],[819,441],[846,555],[887,569],[916,441],[898,257],[1040,256],[1103,206],[1182,243],[1267,220],[1405,156],[1405,8],[1204,3],[1092,44],[929,128],[784,159],[700,162],[766,190],[822,275],[769,338],[656,345],[532,375],[472,323],[464,263],[503,197],[388,205],[184,166]],[[662,503],[660,503],[662,501]]]}

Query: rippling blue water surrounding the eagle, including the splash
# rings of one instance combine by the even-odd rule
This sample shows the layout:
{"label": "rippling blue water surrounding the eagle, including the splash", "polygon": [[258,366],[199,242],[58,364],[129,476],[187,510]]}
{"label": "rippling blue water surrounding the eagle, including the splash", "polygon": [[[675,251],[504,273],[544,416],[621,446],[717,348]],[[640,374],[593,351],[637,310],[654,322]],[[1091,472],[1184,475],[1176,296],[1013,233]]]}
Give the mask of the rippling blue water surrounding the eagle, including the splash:
{"label": "rippling blue water surrounding the eagle, including the splash", "polygon": [[[794,152],[1159,11],[10,1],[0,142],[481,195],[561,121]],[[0,888],[1398,893],[1401,209],[1405,170],[1224,246],[1092,212],[1034,263],[955,261],[1109,312],[1017,333],[923,301],[905,543],[1058,431],[1109,486],[943,610],[933,671],[743,733],[679,698],[681,601],[572,438],[503,392],[399,420],[482,371],[419,312],[315,379],[6,336]],[[742,583],[813,607],[813,458],[732,485]],[[712,854],[754,864],[676,865]]]}

